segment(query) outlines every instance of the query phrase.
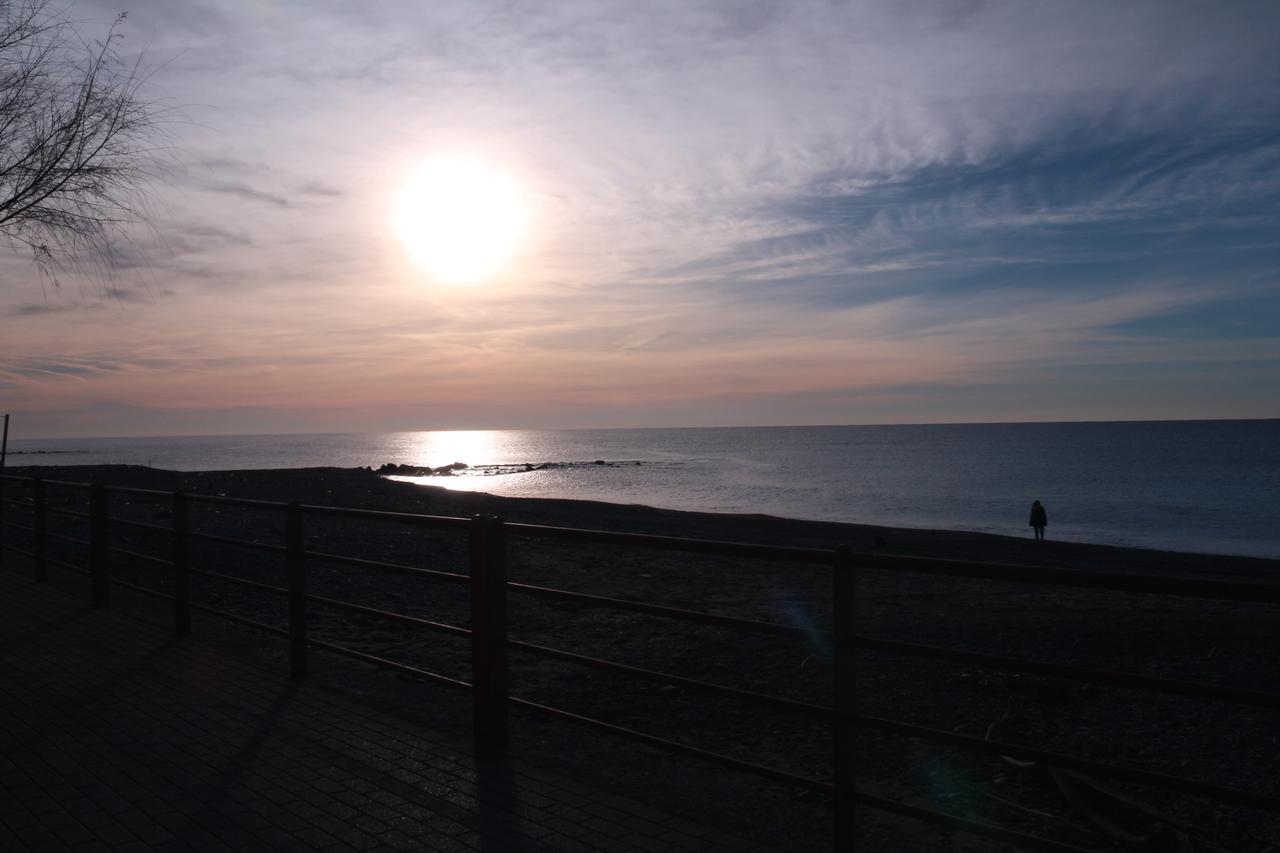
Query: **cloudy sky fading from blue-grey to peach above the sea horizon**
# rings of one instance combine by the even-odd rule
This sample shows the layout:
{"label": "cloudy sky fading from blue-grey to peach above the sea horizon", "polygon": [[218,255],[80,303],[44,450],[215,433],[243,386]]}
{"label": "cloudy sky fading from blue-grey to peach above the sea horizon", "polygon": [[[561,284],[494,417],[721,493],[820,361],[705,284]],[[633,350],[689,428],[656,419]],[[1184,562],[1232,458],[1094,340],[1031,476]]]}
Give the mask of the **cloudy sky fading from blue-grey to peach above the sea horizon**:
{"label": "cloudy sky fading from blue-grey to peach above the sea horizon", "polygon": [[[114,12],[73,6],[91,36]],[[1277,418],[1277,31],[1243,0],[140,0],[122,53],[175,110],[148,222],[56,282],[0,247],[0,410],[23,437]],[[442,159],[522,211],[481,280],[397,218]]]}

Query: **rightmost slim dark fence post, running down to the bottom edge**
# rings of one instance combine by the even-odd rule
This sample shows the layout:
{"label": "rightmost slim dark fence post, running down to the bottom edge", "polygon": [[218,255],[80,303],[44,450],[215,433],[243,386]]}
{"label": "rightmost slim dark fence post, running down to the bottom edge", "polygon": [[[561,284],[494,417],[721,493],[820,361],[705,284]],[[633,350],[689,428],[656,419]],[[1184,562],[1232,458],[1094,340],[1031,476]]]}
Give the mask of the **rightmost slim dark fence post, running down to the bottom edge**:
{"label": "rightmost slim dark fence post, running down to the bottom edge", "polygon": [[858,574],[849,546],[838,546],[831,558],[835,666],[835,720],[832,762],[836,783],[835,849],[854,850],[854,637],[858,633]]}

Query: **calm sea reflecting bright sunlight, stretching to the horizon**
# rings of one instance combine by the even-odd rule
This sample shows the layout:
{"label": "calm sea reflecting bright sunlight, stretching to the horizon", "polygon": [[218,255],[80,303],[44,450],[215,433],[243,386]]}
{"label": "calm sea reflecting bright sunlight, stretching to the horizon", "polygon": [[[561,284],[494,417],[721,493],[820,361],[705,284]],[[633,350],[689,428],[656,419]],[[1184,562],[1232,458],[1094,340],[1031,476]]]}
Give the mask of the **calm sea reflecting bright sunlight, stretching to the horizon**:
{"label": "calm sea reflecting bright sunlight, stretching to the horizon", "polygon": [[[15,424],[17,426],[17,424]],[[14,465],[384,464],[493,494],[1280,558],[1280,420],[424,430],[40,439]]]}

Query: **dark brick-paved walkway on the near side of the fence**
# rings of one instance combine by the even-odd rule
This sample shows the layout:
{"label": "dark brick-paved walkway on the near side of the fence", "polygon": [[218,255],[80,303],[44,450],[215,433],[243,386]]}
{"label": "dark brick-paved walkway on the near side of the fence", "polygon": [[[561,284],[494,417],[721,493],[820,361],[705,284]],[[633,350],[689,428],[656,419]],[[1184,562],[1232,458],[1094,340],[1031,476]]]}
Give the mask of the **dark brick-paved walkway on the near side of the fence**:
{"label": "dark brick-paved walkway on the near side of the fence", "polygon": [[763,850],[0,571],[3,850]]}

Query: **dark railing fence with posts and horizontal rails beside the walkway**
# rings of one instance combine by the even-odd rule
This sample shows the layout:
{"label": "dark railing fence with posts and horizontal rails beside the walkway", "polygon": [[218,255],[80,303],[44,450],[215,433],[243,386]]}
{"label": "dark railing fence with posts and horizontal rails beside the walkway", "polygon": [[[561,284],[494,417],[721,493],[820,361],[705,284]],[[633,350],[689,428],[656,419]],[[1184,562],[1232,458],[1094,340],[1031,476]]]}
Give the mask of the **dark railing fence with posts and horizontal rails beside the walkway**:
{"label": "dark railing fence with posts and horizontal rails beside the walkway", "polygon": [[[51,506],[47,489],[59,491],[63,506]],[[65,492],[87,497],[88,511],[68,508]],[[119,517],[110,512],[110,497],[124,496],[145,498],[138,503],[147,507],[165,507],[170,524],[138,521]],[[252,512],[270,512],[283,520],[284,534],[280,542],[248,540],[236,537],[193,529],[191,507],[211,505],[234,507]],[[47,530],[49,516],[72,519],[78,530],[87,528],[88,538],[67,535]],[[14,520],[20,516],[23,520]],[[467,571],[449,571],[438,567],[410,566],[399,562],[374,560],[362,556],[332,553],[308,547],[306,523],[308,519],[346,519],[365,523],[387,523],[407,525],[417,529],[444,529],[465,532],[468,537]],[[141,530],[155,537],[168,537],[170,552],[168,557],[146,553],[137,548],[124,548],[113,544],[111,532],[115,528]],[[9,533],[24,537],[27,544],[10,542]],[[507,578],[507,548],[513,540],[526,542],[545,539],[572,543],[604,543],[627,548],[657,548],[686,553],[707,553],[724,557],[744,557],[772,562],[791,562],[826,569],[832,579],[833,628],[805,629],[795,625],[765,622],[736,616],[708,613],[696,610],[669,607],[645,601],[613,598],[570,589],[558,589],[538,584],[511,581]],[[82,562],[49,555],[50,543],[72,546],[83,556]],[[247,548],[265,555],[282,557],[287,567],[287,584],[279,585],[242,578],[221,571],[200,569],[192,565],[193,543],[210,543],[232,548]],[[504,749],[507,744],[508,708],[522,708],[543,716],[582,725],[614,736],[625,738],[645,745],[717,763],[724,767],[750,772],[800,789],[833,795],[835,845],[838,850],[854,849],[854,806],[873,808],[936,825],[960,829],[965,833],[1006,841],[1015,847],[1038,850],[1082,850],[1085,848],[1030,835],[1006,826],[973,820],[970,817],[941,812],[901,800],[887,799],[854,785],[852,731],[874,729],[905,738],[940,743],[986,754],[1015,758],[1027,762],[1039,762],[1046,766],[1087,772],[1107,779],[1124,780],[1176,790],[1219,803],[1228,803],[1280,815],[1280,797],[1270,793],[1249,792],[1238,788],[1216,785],[1201,780],[1175,776],[1164,772],[1117,765],[1110,761],[1097,761],[1079,756],[1053,752],[1034,745],[993,742],[989,738],[947,731],[890,720],[878,716],[858,713],[854,695],[854,653],[855,651],[887,653],[920,660],[966,663],[992,670],[1004,670],[1083,684],[1119,686],[1132,690],[1164,693],[1180,697],[1211,699],[1216,702],[1280,710],[1280,694],[1267,690],[1213,685],[1198,681],[1166,679],[1135,672],[1119,672],[1071,663],[1028,660],[1021,657],[987,654],[968,649],[909,643],[888,638],[868,637],[856,633],[856,588],[855,579],[864,571],[910,573],[923,576],[945,576],[970,580],[1010,581],[1018,584],[1042,584],[1048,587],[1069,587],[1107,592],[1125,592],[1151,596],[1175,596],[1213,601],[1280,605],[1280,584],[1216,580],[1206,578],[1171,578],[1161,575],[1140,575],[1121,573],[1080,571],[1051,569],[1043,566],[996,565],[973,561],[932,560],[919,557],[897,557],[883,553],[858,552],[847,547],[835,551],[819,548],[800,548],[787,546],[764,546],[742,542],[722,542],[714,539],[694,539],[669,535],[639,533],[618,533],[611,530],[590,530],[561,528],[536,524],[504,523],[492,516],[460,519],[452,516],[417,515],[411,512],[390,512],[381,510],[335,507],[308,503],[284,503],[228,497],[224,494],[204,494],[193,492],[163,492],[120,485],[102,485],[67,480],[40,479],[31,476],[0,475],[0,558],[5,553],[22,556],[35,562],[37,580],[45,578],[47,566],[69,570],[91,579],[92,599],[97,605],[109,601],[111,587],[129,589],[151,597],[173,602],[174,625],[178,634],[189,631],[192,611],[229,620],[255,630],[284,638],[291,647],[291,672],[296,678],[306,675],[307,649],[321,649],[374,666],[397,671],[425,681],[467,690],[472,697],[472,719],[477,745],[486,749]],[[111,575],[111,558],[124,558],[129,564],[157,566],[170,573],[172,593],[134,583]],[[452,625],[422,616],[396,612],[380,607],[361,605],[353,601],[320,596],[307,589],[307,565],[329,564],[370,573],[390,573],[424,581],[443,581],[463,584],[470,590],[471,620],[467,626]],[[288,605],[287,626],[271,625],[259,619],[236,613],[221,607],[191,599],[189,578],[207,578],[220,584],[238,587],[255,593],[284,599]],[[507,596],[516,593],[535,598],[553,599],[581,607],[603,607],[637,612],[649,616],[678,620],[686,624],[714,626],[735,631],[776,635],[788,639],[817,639],[832,649],[835,671],[835,703],[832,706],[814,704],[799,699],[733,688],[723,684],[691,679],[672,672],[632,666],[620,661],[581,654],[539,643],[531,643],[507,637]],[[421,629],[430,633],[447,634],[471,643],[472,678],[470,681],[433,672],[426,669],[372,654],[361,649],[344,647],[310,637],[307,633],[308,606],[356,613],[362,617],[384,622]],[[701,749],[669,738],[639,731],[604,720],[576,713],[567,708],[553,707],[543,702],[511,695],[507,686],[508,652],[520,652],[544,658],[552,658],[571,665],[611,671],[648,681],[701,690],[744,703],[768,706],[778,711],[795,712],[810,719],[827,721],[832,725],[833,781],[796,775],[776,767],[744,761],[732,756]]]}

